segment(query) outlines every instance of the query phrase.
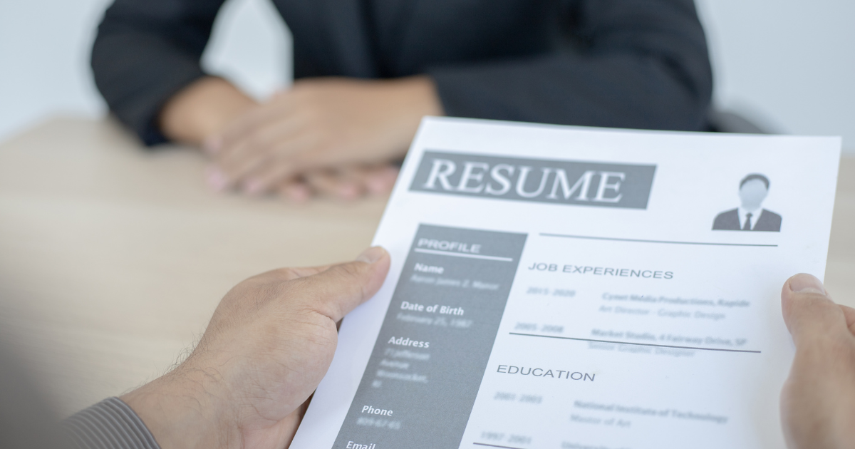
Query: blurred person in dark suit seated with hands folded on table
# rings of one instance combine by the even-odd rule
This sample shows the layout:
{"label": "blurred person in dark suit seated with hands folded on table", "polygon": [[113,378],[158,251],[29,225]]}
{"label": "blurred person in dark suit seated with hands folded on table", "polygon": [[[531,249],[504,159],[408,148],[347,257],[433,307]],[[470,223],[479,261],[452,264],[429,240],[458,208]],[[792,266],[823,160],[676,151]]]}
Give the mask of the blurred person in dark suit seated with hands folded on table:
{"label": "blurred person in dark suit seated with hands folded on table", "polygon": [[223,0],[115,0],[91,63],[147,145],[200,145],[216,189],[387,192],[424,115],[700,131],[693,0],[274,0],[294,85],[257,103],[199,58]]}

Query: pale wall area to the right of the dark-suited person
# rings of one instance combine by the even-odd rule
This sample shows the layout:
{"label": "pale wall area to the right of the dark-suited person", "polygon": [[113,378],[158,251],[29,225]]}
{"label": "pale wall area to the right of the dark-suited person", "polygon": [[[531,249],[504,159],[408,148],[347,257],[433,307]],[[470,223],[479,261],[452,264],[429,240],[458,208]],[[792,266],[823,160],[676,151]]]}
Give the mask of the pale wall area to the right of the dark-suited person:
{"label": "pale wall area to the right of the dark-suited person", "polygon": [[696,2],[716,103],[784,133],[843,135],[855,151],[855,2]]}

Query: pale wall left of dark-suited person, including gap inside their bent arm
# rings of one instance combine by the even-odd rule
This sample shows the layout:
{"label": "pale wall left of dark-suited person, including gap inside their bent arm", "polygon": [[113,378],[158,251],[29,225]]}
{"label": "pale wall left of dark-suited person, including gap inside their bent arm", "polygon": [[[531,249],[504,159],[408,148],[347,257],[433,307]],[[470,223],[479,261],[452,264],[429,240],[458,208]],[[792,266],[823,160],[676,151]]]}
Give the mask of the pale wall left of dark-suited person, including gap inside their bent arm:
{"label": "pale wall left of dark-suited person, including gap inside their bent arm", "polygon": [[[112,0],[0,0],[0,141],[56,114],[97,117],[95,28]],[[291,35],[267,0],[228,0],[203,64],[257,97],[291,77]]]}

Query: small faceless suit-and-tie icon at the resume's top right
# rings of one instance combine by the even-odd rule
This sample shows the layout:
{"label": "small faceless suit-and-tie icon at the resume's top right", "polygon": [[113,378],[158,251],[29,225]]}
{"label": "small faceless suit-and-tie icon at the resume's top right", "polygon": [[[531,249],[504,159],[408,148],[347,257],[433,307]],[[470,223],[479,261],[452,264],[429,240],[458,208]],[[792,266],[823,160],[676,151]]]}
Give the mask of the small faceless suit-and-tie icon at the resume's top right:
{"label": "small faceless suit-and-tie icon at the resume's top right", "polygon": [[712,223],[713,231],[768,231],[781,232],[781,216],[760,208],[769,194],[769,178],[763,174],[749,174],[740,182],[742,205],[725,210]]}

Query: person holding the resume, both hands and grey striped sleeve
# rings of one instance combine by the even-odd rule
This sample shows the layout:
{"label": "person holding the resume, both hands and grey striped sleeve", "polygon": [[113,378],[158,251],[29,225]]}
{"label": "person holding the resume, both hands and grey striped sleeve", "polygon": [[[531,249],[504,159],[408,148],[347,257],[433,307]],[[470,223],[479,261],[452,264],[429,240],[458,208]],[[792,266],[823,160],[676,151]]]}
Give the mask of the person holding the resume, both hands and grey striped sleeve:
{"label": "person holding the resume, both hands and grey striped sleeve", "polygon": [[[38,395],[0,351],[0,447],[287,447],[333,360],[337,323],[374,296],[389,264],[375,247],[355,262],[241,282],[183,363],[68,418],[59,434],[44,433]],[[811,275],[787,280],[781,304],[796,346],[781,392],[788,446],[852,447],[855,310],[834,304]]]}

